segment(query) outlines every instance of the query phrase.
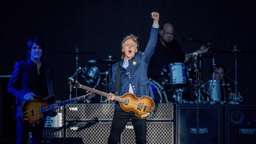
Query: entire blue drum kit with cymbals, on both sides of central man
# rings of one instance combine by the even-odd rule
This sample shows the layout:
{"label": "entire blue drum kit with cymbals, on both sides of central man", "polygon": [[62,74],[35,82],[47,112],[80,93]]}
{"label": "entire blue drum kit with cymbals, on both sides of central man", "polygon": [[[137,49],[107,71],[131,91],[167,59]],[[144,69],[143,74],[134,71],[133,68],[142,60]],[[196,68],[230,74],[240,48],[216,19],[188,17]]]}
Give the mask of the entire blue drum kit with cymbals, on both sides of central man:
{"label": "entire blue drum kit with cymbals, on both sides of central man", "polygon": [[[189,56],[193,64],[189,63],[170,63],[163,66],[161,71],[162,78],[157,81],[154,79],[149,79],[151,81],[151,87],[155,97],[159,97],[159,103],[177,103],[177,104],[193,104],[197,100],[199,103],[208,104],[239,104],[243,101],[243,97],[239,94],[237,90],[237,53],[251,52],[248,50],[237,50],[234,46],[234,50],[221,51],[219,54],[231,53],[235,55],[235,79],[234,79],[234,90],[232,90],[232,85],[230,82],[224,79],[217,80],[214,79],[214,72],[212,74],[213,78],[208,81],[202,81],[201,79],[201,61],[199,61],[199,68],[197,69],[197,54]],[[82,67],[78,66],[78,54],[94,54],[90,52],[80,52],[78,48],[75,51],[65,52],[67,54],[76,54],[76,72],[70,78],[75,78],[80,76],[84,81],[94,88],[104,87],[105,92],[110,91],[110,78],[111,78],[111,66],[117,63],[116,60],[112,59],[111,55],[108,55],[108,59],[101,60],[89,60]],[[216,52],[213,52],[213,71],[214,71],[214,57]],[[198,55],[198,59],[202,59],[206,56]],[[190,62],[191,62],[190,61]],[[102,72],[95,63],[103,63],[108,65],[108,70]],[[191,87],[193,88],[191,90]],[[197,100],[187,100],[183,98],[188,91],[192,91],[195,94]],[[229,93],[234,92],[233,96]],[[77,91],[76,91],[77,96]],[[71,87],[70,87],[70,98],[71,98]],[[90,102],[90,101],[87,101]],[[101,103],[107,103],[108,100],[101,96]]]}

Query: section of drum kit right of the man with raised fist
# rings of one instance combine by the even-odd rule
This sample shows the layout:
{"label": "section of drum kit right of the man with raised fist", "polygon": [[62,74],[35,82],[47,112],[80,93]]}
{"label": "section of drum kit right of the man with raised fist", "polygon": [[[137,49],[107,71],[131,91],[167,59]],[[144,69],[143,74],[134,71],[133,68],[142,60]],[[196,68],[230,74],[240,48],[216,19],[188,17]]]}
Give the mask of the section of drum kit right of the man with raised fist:
{"label": "section of drum kit right of the man with raised fist", "polygon": [[[225,75],[223,79],[214,79],[214,57],[216,52],[213,52],[213,56],[198,55],[197,57],[197,54],[189,55],[191,61],[193,61],[192,64],[188,62],[165,65],[161,72],[161,79],[150,79],[154,95],[160,96],[160,103],[194,104],[198,101],[202,104],[239,104],[243,101],[243,97],[237,90],[237,53],[247,52],[255,51],[237,50],[236,46],[234,46],[234,50],[218,52],[218,54],[235,55],[236,75],[234,80],[229,79],[229,81],[224,78]],[[198,64],[197,59],[201,60],[206,57],[213,59],[213,77],[208,81],[202,81],[201,61]],[[199,65],[199,68],[197,68],[197,65]],[[232,85],[231,83],[234,84]],[[184,98],[189,93],[194,94],[197,100]]]}

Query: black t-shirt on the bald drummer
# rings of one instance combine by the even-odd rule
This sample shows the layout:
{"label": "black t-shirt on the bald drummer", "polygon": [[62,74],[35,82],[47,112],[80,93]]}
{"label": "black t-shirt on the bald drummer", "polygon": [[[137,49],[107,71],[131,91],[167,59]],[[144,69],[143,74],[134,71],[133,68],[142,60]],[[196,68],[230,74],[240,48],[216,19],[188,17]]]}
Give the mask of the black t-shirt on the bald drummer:
{"label": "black t-shirt on the bald drummer", "polygon": [[184,63],[185,54],[178,41],[173,40],[166,45],[167,47],[158,39],[156,49],[148,64],[148,78],[155,80],[162,78],[161,70],[169,63]]}

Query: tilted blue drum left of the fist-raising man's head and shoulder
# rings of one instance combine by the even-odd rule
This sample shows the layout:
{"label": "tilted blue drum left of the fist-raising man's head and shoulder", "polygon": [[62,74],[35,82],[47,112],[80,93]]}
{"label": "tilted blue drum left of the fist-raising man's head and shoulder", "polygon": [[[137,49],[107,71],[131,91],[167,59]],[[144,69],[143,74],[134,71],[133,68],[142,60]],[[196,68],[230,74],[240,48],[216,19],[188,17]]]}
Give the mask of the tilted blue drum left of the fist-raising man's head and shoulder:
{"label": "tilted blue drum left of the fist-raising man's head and shoulder", "polygon": [[87,83],[96,84],[100,74],[100,69],[98,69],[96,66],[86,64],[78,74],[85,78]]}

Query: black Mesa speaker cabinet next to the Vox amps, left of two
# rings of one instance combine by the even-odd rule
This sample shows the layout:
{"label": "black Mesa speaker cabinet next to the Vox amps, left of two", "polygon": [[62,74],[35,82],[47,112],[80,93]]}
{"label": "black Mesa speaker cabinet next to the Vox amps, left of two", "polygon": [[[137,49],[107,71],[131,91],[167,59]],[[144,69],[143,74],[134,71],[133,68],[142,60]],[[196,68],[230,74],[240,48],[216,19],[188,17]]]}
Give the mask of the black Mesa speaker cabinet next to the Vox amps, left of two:
{"label": "black Mesa speaker cabinet next to the Vox amps, left of two", "polygon": [[[222,144],[222,106],[199,105],[199,144]],[[176,105],[176,144],[197,144],[196,105]]]}

